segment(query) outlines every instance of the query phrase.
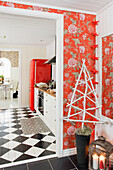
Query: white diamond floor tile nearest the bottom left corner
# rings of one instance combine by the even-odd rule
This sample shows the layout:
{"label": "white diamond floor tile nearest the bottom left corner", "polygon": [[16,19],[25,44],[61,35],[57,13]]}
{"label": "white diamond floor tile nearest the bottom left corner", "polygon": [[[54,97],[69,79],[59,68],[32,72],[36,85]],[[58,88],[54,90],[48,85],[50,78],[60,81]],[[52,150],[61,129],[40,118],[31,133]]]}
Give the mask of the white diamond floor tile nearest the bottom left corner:
{"label": "white diamond floor tile nearest the bottom left corner", "polygon": [[10,150],[6,154],[4,154],[1,158],[6,159],[8,161],[14,161],[15,159],[17,159],[21,155],[22,155],[21,152]]}

